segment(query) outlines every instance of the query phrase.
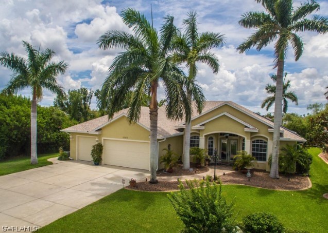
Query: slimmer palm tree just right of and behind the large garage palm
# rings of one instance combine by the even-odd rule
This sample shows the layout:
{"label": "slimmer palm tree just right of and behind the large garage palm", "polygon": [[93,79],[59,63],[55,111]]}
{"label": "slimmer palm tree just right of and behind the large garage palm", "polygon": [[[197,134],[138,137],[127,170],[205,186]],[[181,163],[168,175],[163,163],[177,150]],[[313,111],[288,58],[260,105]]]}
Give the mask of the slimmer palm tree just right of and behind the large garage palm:
{"label": "slimmer palm tree just right of and behind the large garage palm", "polygon": [[[203,32],[198,33],[197,28],[197,13],[191,11],[188,17],[183,21],[184,34],[179,35],[174,40],[175,61],[178,63],[186,63],[189,70],[187,96],[188,100],[195,100],[197,111],[201,113],[205,98],[196,98],[194,90],[195,79],[197,75],[197,62],[208,65],[213,73],[219,71],[220,65],[217,56],[211,53],[212,48],[217,48],[225,43],[225,36],[220,33]],[[186,115],[187,116],[187,115]],[[183,169],[190,167],[190,133],[191,133],[191,116],[185,119],[184,144],[183,144]]]}

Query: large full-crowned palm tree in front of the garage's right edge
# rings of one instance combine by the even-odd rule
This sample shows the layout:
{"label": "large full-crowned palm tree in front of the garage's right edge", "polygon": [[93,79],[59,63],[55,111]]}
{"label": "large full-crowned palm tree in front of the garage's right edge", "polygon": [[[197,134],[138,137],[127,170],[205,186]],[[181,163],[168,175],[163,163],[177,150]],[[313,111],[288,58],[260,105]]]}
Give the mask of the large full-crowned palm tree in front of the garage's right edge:
{"label": "large full-crowned palm tree in front of the garage's right edge", "polygon": [[[110,30],[100,36],[100,49],[121,48],[109,68],[109,75],[99,93],[98,106],[106,107],[109,119],[127,100],[132,91],[128,119],[130,123],[140,118],[145,92],[150,95],[150,183],[157,183],[157,89],[161,81],[166,94],[166,115],[169,119],[182,119],[184,112],[191,111],[182,83],[185,76],[172,62],[171,41],[177,34],[174,18],[166,16],[158,34],[143,14],[128,8],[121,13],[124,23],[134,34]],[[195,88],[197,89],[197,87]],[[201,94],[200,89],[197,89]],[[199,95],[198,94],[198,95]]]}

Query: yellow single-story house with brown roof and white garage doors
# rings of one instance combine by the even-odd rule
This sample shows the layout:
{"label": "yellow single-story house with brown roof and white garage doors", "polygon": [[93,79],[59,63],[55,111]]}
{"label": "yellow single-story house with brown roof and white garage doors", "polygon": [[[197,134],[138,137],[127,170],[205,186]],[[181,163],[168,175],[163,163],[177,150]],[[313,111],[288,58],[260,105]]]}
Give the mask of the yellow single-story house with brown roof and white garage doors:
{"label": "yellow single-story house with brown roof and white garage doors", "polygon": [[[140,121],[129,124],[128,109],[84,122],[61,131],[70,134],[71,157],[91,161],[91,147],[103,144],[102,164],[149,170],[149,108],[141,108]],[[165,106],[158,110],[158,158],[163,148],[183,153],[184,122],[166,118]],[[306,140],[296,132],[281,127],[280,148]],[[273,122],[231,101],[207,101],[201,114],[194,110],[190,146],[217,149],[222,162],[233,162],[238,150],[256,157],[255,167],[270,170]],[[158,168],[163,165],[158,164]]]}

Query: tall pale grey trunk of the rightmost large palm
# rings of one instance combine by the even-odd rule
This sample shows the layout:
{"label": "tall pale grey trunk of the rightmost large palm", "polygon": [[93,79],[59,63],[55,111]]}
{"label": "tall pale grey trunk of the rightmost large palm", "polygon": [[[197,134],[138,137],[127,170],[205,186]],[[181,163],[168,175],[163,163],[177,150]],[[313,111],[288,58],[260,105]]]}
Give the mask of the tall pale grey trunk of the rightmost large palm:
{"label": "tall pale grey trunk of the rightmost large palm", "polygon": [[270,170],[271,178],[279,178],[278,158],[279,158],[279,146],[280,146],[280,127],[281,127],[281,120],[282,120],[283,74],[284,74],[284,59],[283,59],[283,55],[281,55],[278,61],[277,84],[275,87],[273,148],[272,148],[272,163],[271,163],[271,170]]}

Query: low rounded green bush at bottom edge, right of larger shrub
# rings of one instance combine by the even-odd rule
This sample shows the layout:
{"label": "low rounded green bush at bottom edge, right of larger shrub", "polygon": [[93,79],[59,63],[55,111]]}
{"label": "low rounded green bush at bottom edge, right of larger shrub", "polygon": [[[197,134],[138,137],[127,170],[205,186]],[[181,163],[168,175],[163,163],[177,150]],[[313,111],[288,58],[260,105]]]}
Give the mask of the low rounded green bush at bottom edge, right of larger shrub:
{"label": "low rounded green bush at bottom edge, right of larger shrub", "polygon": [[271,213],[255,212],[243,219],[244,232],[247,233],[280,233],[283,225]]}

